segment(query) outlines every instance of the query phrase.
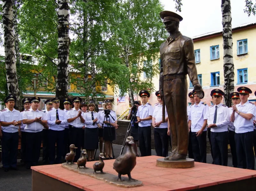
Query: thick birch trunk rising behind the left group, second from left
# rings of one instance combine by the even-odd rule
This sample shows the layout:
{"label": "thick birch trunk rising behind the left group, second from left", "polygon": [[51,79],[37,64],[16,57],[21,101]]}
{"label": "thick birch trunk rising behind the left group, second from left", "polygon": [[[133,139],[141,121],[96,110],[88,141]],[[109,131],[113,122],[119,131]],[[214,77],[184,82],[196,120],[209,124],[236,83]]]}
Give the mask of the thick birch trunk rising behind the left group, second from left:
{"label": "thick birch trunk rising behind the left group, second from left", "polygon": [[[69,64],[69,8],[68,0],[58,0],[58,66],[56,97],[60,100],[68,97]],[[60,102],[61,103],[61,102]],[[60,105],[63,108],[63,104]]]}

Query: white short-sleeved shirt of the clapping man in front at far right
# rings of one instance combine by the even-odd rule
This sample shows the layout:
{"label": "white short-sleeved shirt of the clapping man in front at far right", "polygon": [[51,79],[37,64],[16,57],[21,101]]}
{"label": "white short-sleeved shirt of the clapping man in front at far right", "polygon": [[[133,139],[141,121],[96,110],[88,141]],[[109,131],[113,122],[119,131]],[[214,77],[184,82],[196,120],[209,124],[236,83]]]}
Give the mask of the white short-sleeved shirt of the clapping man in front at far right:
{"label": "white short-sleeved shirt of the clapping man in front at far right", "polygon": [[236,133],[247,133],[250,131],[253,131],[253,119],[255,117],[255,105],[250,103],[249,101],[245,102],[244,105],[242,105],[242,102],[239,104],[236,104],[236,108],[238,111],[244,113],[244,114],[252,114],[253,117],[251,120],[247,120],[243,118],[241,115],[238,115],[235,113],[235,121],[234,126],[236,127]]}

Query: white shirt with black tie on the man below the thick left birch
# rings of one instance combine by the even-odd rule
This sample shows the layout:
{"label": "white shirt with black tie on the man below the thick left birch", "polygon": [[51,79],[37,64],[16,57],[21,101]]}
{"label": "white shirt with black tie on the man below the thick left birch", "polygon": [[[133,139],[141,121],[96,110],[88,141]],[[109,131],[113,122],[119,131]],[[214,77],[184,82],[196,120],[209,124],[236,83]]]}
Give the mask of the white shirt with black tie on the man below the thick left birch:
{"label": "white shirt with black tie on the man below the thick left birch", "polygon": [[46,119],[47,119],[47,125],[49,125],[49,129],[55,130],[55,131],[61,131],[65,129],[66,124],[68,123],[67,121],[67,114],[65,111],[62,109],[58,108],[58,115],[59,115],[59,120],[61,121],[60,124],[56,124],[56,113],[57,109],[54,107],[46,114]]}

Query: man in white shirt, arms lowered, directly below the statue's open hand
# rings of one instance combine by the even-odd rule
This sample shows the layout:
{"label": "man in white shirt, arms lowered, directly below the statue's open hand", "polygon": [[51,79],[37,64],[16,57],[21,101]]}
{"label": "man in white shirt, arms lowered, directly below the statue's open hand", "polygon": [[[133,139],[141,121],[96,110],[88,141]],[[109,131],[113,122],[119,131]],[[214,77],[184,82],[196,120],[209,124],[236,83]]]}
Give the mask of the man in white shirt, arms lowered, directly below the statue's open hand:
{"label": "man in white shirt, arms lowered, directly below the statue's open hand", "polygon": [[[191,127],[193,156],[196,162],[206,163],[206,125],[209,107],[202,102],[193,90],[195,104],[188,116],[188,127]],[[204,96],[204,93],[203,93]]]}

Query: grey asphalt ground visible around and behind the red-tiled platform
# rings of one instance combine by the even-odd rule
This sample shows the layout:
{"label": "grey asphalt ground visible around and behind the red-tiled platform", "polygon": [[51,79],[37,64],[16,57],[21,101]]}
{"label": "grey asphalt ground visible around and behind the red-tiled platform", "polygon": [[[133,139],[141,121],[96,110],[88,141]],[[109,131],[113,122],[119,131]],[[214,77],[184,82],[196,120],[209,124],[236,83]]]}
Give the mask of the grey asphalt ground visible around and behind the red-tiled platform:
{"label": "grey asphalt ground visible around and behind the red-tiled platform", "polygon": [[[113,145],[115,157],[119,156],[121,151],[121,145]],[[125,148],[124,152],[125,153]],[[99,155],[99,151],[97,151],[97,155]],[[152,150],[152,155],[156,155],[156,152]],[[98,157],[96,158],[98,159]],[[113,161],[114,162],[114,161]],[[212,156],[207,154],[207,163],[212,164]],[[256,164],[256,163],[255,163]],[[42,165],[42,158],[39,159],[39,165]],[[228,166],[232,166],[232,157],[228,155]],[[32,187],[32,178],[31,178],[31,170],[27,170],[24,165],[18,161],[18,171],[10,170],[9,172],[4,172],[0,169],[0,190],[1,191],[19,191],[31,190]],[[256,169],[256,166],[255,166]]]}

